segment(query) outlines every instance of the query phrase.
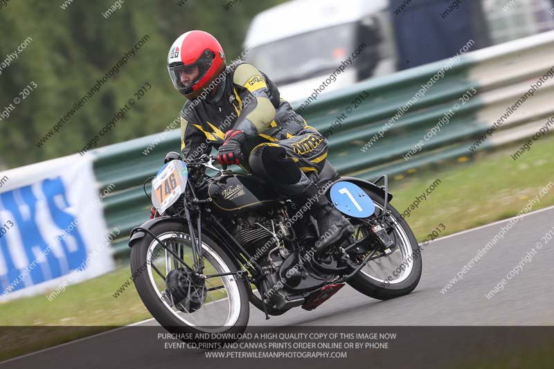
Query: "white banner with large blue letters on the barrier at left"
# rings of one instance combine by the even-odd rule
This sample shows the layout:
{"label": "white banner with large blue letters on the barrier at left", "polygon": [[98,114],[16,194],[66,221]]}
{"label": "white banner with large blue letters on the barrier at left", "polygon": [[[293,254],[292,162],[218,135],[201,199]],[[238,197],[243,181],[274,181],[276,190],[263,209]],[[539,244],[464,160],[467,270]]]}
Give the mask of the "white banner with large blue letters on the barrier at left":
{"label": "white banner with large blue letters on the barrier at left", "polygon": [[109,191],[98,193],[90,156],[27,165],[0,178],[0,301],[59,293],[114,269],[114,233],[108,236],[100,205]]}

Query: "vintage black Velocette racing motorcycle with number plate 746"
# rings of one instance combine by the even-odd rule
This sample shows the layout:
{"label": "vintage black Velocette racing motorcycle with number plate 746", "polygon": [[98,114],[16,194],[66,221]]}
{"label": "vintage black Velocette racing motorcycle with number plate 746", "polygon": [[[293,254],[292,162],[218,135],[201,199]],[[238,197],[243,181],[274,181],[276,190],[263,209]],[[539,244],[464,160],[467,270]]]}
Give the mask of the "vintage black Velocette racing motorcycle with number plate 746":
{"label": "vintage black Velocette racing motorcycle with number plate 746", "polygon": [[409,294],[418,285],[418,242],[389,203],[386,175],[375,182],[340,177],[325,164],[319,195],[328,197],[355,233],[316,252],[316,242],[337,227],[317,229],[309,214],[312,201],[295,204],[261,179],[213,162],[207,154],[185,163],[168,153],[150,177],[149,199],[159,216],[131,232],[136,290],[166,330],[242,334],[249,302],[269,319],[293,307],[315,309],[345,283],[379,300]]}

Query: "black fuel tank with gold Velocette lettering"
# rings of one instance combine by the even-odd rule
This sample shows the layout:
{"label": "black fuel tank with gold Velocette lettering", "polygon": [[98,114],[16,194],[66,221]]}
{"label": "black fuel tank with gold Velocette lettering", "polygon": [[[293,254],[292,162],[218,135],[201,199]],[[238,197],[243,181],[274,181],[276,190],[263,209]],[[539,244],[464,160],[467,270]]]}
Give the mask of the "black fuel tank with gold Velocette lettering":
{"label": "black fuel tank with gold Velocette lettering", "polygon": [[271,206],[271,203],[281,198],[256,177],[243,174],[231,174],[217,179],[209,184],[207,192],[214,207],[224,213],[242,213]]}

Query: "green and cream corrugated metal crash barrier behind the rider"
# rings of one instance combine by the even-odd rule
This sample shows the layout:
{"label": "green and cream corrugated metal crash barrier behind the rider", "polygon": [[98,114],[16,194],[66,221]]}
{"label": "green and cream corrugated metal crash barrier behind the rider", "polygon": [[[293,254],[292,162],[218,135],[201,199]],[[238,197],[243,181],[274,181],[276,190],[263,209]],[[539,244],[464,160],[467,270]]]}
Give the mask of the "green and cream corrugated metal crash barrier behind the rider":
{"label": "green and cream corrugated metal crash barrier behind the rider", "polygon": [[[446,63],[447,60],[434,62],[323,93],[303,110],[307,123],[328,136],[328,160],[339,173],[370,180],[383,173],[400,178],[405,172],[414,172],[431,163],[447,159],[465,161],[475,152],[530,136],[552,114],[554,78],[544,82],[534,96],[505,119],[476,150],[470,150],[476,138],[487,132],[506,108],[528,91],[530,84],[536,83],[554,66],[554,31],[466,53],[445,71],[444,78],[434,82],[425,96],[362,152],[361,148],[370,138]],[[458,100],[472,89],[476,93],[467,102]],[[361,104],[352,103],[359,96],[368,97],[361,100]],[[298,108],[302,102],[292,105]],[[406,161],[402,156],[456,103],[460,107],[449,118],[449,123],[440,127],[440,132]],[[338,127],[339,123],[334,122],[341,114],[346,118],[341,119]],[[175,129],[144,155],[143,150],[156,142],[158,136],[154,134],[91,150],[100,188],[109,183],[118,188],[118,192],[104,200],[109,228],[118,227],[124,235],[113,244],[118,258],[126,258],[129,253],[127,235],[131,228],[148,219],[150,202],[143,193],[143,181],[161,167],[166,152],[179,150],[179,129]]]}

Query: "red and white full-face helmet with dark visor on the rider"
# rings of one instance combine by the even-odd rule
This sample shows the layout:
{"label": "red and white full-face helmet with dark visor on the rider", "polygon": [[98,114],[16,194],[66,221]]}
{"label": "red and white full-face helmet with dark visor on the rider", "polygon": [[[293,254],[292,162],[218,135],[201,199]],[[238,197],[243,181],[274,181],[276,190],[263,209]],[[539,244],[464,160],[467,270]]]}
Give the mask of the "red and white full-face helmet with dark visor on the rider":
{"label": "red and white full-face helmet with dark visor on the rider", "polygon": [[[192,81],[181,82],[181,72],[195,71]],[[217,39],[203,30],[191,30],[179,36],[168,54],[168,71],[173,86],[186,98],[193,99],[208,87],[225,68],[225,54]]]}

